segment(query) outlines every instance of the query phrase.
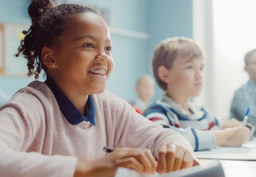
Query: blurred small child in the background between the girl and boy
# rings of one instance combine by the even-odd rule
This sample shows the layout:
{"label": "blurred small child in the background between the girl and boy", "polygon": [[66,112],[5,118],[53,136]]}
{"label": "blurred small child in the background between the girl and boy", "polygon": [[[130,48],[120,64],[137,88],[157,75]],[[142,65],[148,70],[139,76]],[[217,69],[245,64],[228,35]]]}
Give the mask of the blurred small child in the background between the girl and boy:
{"label": "blurred small child in the background between the girl and boy", "polygon": [[151,102],[151,99],[154,96],[154,86],[154,78],[150,75],[143,75],[138,78],[135,86],[137,99],[134,102],[130,102],[132,107],[135,108],[138,113],[143,113]]}

